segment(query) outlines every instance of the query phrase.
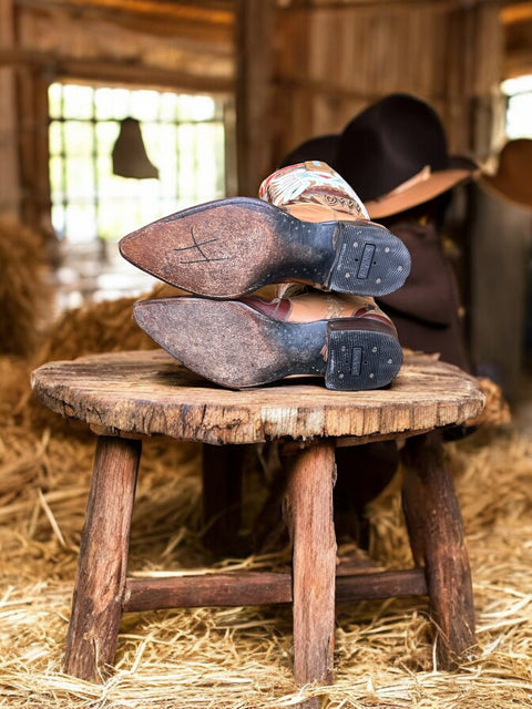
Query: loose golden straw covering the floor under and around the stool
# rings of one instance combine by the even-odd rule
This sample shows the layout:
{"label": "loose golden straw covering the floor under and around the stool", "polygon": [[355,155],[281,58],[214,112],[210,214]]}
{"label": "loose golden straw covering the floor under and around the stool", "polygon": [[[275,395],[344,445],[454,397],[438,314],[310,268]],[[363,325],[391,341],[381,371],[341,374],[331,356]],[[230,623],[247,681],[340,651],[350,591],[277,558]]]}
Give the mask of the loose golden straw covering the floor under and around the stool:
{"label": "loose golden straw covering the floor under and around the stool", "polygon": [[[102,307],[91,322],[108,316],[131,322],[127,304],[106,306],[105,317]],[[76,328],[68,340],[71,356],[101,347],[100,335],[92,346],[81,337],[79,328],[92,331],[81,315]],[[124,328],[116,342],[130,337]],[[59,336],[53,342],[48,352],[59,353]],[[436,666],[423,599],[390,599],[338,608],[331,687],[294,687],[290,610],[279,606],[129,614],[116,672],[105,685],[64,676],[94,445],[58,417],[51,429],[33,415],[28,370],[23,361],[0,359],[0,401],[8,401],[0,409],[0,707],[270,709],[308,696],[321,697],[327,709],[532,707],[532,438],[511,428],[479,430],[447,446],[471,556],[480,645],[459,671]],[[146,442],[133,520],[135,572],[212,563],[202,545],[200,460],[196,444]],[[369,515],[372,556],[391,567],[409,563],[397,482]],[[285,551],[218,566],[270,567],[286,558]]]}

